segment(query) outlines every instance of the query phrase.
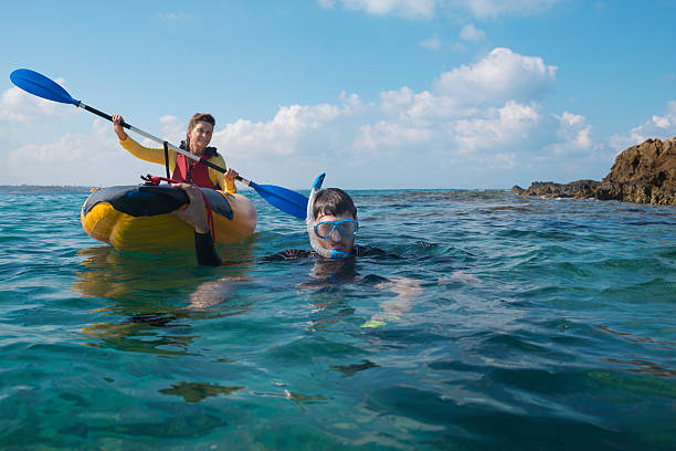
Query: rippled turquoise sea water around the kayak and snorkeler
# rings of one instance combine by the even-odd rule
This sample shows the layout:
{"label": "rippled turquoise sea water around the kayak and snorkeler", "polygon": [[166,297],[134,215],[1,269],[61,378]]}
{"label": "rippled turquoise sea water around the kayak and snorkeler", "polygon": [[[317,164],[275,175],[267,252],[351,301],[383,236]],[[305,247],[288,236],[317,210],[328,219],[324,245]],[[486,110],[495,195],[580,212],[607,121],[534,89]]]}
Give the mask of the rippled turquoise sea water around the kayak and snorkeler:
{"label": "rippled turquoise sea water around the kayak and snorkeler", "polygon": [[337,266],[256,262],[308,247],[249,192],[211,269],[86,196],[0,195],[3,450],[676,449],[674,207],[356,191],[403,259]]}

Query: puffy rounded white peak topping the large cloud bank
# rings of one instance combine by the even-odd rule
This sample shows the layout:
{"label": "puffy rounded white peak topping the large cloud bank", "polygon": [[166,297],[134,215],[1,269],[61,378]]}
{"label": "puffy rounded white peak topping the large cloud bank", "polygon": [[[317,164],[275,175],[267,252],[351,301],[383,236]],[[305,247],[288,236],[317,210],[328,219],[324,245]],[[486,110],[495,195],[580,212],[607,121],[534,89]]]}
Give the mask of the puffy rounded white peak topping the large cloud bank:
{"label": "puffy rounded white peak topping the large cloud bank", "polygon": [[476,64],[441,74],[434,87],[469,103],[501,103],[539,97],[553,86],[556,74],[557,67],[546,65],[541,57],[498,48]]}

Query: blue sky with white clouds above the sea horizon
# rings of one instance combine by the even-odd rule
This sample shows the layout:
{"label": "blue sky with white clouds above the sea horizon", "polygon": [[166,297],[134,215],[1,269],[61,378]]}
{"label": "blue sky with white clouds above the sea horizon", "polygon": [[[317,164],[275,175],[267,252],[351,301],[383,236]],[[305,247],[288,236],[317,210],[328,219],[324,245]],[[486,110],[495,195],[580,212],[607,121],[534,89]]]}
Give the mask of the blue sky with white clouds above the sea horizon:
{"label": "blue sky with white clouds above the sea horizon", "polygon": [[676,0],[2,9],[0,185],[135,185],[165,171],[124,150],[105,119],[19,90],[9,75],[21,67],[172,144],[209,112],[229,167],[292,189],[324,171],[345,189],[600,180],[625,148],[676,136]]}

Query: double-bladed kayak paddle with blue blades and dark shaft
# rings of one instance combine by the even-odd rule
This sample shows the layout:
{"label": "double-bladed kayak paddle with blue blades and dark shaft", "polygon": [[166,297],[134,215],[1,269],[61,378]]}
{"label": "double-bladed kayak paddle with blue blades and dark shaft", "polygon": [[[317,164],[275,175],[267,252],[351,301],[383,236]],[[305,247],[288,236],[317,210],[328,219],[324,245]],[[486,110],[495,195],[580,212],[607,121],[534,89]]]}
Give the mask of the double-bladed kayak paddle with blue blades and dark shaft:
{"label": "double-bladed kayak paddle with blue blades and dark shaft", "polygon": [[[81,101],[76,101],[75,98],[71,97],[71,94],[68,94],[56,82],[47,78],[46,76],[35,71],[31,71],[30,69],[18,69],[10,74],[10,80],[23,91],[36,95],[38,97],[46,98],[47,101],[75,105],[78,108],[86,109],[89,113],[94,113],[95,115],[103,117],[104,119],[113,122],[113,117],[110,115],[99,112],[98,109],[93,108],[89,105],[85,105]],[[165,143],[163,139],[152,136],[149,133],[138,129],[127,123],[123,122],[122,126],[141,136],[145,136],[148,139],[152,139],[156,143]],[[202,164],[220,172],[225,172],[225,168],[222,168],[211,161],[200,158],[194,154],[176,147],[172,144],[167,143],[167,147],[178,151],[181,155],[184,155],[188,158],[192,158],[196,161],[201,161]],[[285,213],[295,216],[296,218],[305,219],[305,216],[307,213],[307,198],[300,195],[299,192],[292,191],[287,188],[276,187],[274,185],[258,185],[239,176],[237,180],[255,189],[256,192],[273,207],[284,211]]]}

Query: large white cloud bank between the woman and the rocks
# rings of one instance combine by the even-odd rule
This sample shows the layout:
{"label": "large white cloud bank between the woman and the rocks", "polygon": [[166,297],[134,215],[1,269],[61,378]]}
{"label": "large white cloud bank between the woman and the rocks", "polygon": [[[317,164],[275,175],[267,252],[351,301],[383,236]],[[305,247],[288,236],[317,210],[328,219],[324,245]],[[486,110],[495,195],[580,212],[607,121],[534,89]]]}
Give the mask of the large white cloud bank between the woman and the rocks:
{"label": "large white cloud bank between the woman and the rocks", "polygon": [[529,156],[545,164],[592,145],[582,116],[541,112],[537,99],[554,74],[540,57],[496,49],[476,64],[442,74],[431,91],[404,86],[372,103],[344,95],[337,104],[284,106],[267,122],[229,124],[214,141],[228,149],[232,164],[252,164],[254,170],[256,162],[258,172],[263,159],[349,167],[352,175],[400,161],[400,172],[429,166],[426,172],[460,171],[463,182],[478,186],[479,172],[468,168],[511,170]]}

